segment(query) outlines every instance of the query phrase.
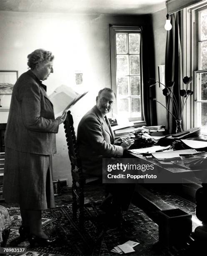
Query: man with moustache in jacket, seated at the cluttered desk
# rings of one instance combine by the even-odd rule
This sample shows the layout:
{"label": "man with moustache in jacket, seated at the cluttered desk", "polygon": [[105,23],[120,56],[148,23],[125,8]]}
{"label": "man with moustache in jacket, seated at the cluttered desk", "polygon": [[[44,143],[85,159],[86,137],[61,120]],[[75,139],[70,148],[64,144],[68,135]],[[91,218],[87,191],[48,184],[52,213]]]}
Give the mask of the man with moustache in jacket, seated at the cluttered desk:
{"label": "man with moustache in jacket, seated at the cluttered desk", "polygon": [[[96,97],[96,105],[83,116],[77,128],[77,145],[82,168],[89,177],[102,177],[102,158],[120,157],[123,151],[134,143],[134,139],[127,139],[124,142],[120,139],[114,140],[114,133],[106,117],[106,114],[112,110],[114,101],[115,93],[110,88],[100,90]],[[134,187],[134,184],[129,185]],[[107,199],[102,209],[107,210],[105,205],[110,201],[110,205],[112,202],[114,206],[116,205],[116,210],[120,207],[122,210],[127,210],[133,189],[128,189],[126,186],[127,184],[108,184]]]}

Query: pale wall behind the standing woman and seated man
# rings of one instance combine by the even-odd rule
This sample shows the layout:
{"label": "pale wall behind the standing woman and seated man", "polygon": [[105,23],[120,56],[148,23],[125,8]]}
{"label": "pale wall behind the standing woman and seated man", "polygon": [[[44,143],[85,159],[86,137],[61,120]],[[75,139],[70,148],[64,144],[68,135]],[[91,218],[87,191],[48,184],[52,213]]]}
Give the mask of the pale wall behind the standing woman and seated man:
{"label": "pale wall behind the standing woman and seated man", "polygon": [[[47,93],[61,84],[75,86],[75,71],[83,73],[78,90],[89,93],[72,107],[75,128],[95,105],[97,92],[111,86],[109,24],[140,26],[147,16],[70,15],[59,13],[0,12],[0,70],[27,71],[27,55],[44,48],[55,55],[54,74],[44,83]],[[0,121],[4,118],[0,112]],[[63,125],[56,136],[57,154],[52,157],[53,179],[68,179],[70,161]]]}

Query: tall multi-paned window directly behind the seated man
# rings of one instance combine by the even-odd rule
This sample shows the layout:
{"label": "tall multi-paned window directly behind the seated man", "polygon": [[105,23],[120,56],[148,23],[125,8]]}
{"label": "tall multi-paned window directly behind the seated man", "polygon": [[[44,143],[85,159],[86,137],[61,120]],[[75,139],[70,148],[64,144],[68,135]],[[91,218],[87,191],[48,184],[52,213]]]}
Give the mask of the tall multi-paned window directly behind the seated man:
{"label": "tall multi-paned window directly behind the seated man", "polygon": [[141,31],[138,27],[110,26],[112,89],[117,95],[115,113],[141,120]]}

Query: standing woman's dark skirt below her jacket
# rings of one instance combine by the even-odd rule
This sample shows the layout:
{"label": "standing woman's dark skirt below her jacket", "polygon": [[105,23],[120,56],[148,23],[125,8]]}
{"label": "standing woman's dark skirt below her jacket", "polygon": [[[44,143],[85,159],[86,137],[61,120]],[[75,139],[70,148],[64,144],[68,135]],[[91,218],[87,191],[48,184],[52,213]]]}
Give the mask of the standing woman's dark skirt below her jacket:
{"label": "standing woman's dark skirt below her jacket", "polygon": [[5,202],[17,202],[24,210],[55,207],[49,157],[5,148]]}

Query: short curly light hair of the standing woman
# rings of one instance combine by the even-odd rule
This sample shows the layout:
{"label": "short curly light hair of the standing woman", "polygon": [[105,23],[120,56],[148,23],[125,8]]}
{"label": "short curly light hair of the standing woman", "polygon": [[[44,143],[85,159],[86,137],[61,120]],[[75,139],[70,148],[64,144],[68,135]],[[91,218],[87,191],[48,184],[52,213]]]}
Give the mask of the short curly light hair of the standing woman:
{"label": "short curly light hair of the standing woman", "polygon": [[27,56],[28,62],[27,65],[30,69],[35,69],[37,64],[40,64],[44,61],[52,61],[54,59],[54,55],[52,55],[51,51],[45,51],[44,49],[37,49],[32,51],[31,54]]}

